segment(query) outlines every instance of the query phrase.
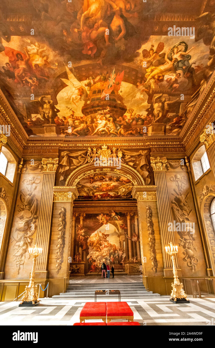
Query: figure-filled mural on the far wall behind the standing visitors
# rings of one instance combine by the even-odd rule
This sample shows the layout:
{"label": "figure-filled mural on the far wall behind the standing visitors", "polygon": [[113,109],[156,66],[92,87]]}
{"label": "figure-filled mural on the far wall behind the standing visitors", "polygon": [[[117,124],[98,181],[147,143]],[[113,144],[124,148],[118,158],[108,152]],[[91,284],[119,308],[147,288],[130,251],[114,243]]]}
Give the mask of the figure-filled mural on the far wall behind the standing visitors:
{"label": "figure-filled mural on the far wall behind the standing visitors", "polygon": [[126,243],[129,238],[135,251],[133,263],[138,262],[137,249],[133,244],[139,243],[139,237],[135,232],[133,220],[132,237],[128,236],[125,213],[112,210],[108,213],[83,215],[82,223],[76,221],[74,263],[84,261],[85,273],[98,273],[102,262],[123,271],[125,259],[129,259],[129,255],[126,255]]}

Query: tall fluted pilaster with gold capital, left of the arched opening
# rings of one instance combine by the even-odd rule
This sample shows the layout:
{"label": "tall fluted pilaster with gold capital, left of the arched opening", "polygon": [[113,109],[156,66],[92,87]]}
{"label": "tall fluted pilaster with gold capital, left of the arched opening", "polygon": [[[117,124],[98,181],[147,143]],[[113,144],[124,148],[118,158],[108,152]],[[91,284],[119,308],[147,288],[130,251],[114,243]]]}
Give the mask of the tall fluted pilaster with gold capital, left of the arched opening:
{"label": "tall fluted pilaster with gold capital, left of the arched opening", "polygon": [[53,186],[55,184],[58,158],[43,158],[41,164],[44,169],[36,244],[43,249],[43,252],[36,261],[36,273],[38,277],[46,278],[53,205]]}

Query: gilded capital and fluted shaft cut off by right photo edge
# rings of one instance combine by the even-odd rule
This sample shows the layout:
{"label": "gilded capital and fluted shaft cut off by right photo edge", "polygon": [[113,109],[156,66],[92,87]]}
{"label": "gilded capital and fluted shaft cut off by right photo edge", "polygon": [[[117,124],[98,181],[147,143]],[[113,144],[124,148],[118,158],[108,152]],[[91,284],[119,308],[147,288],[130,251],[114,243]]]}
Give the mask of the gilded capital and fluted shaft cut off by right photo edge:
{"label": "gilded capital and fluted shaft cut off by right photo edge", "polygon": [[205,145],[210,167],[215,176],[215,130],[212,124],[201,134],[200,142]]}

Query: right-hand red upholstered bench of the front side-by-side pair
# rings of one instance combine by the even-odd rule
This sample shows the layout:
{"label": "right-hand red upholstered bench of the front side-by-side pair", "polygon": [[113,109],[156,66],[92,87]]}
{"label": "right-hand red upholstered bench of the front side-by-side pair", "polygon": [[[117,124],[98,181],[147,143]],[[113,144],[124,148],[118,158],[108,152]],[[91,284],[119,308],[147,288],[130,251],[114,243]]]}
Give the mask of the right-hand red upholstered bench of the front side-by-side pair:
{"label": "right-hand red upholstered bench of the front side-by-side pair", "polygon": [[106,302],[107,306],[107,323],[111,319],[127,319],[133,322],[134,313],[127,302]]}

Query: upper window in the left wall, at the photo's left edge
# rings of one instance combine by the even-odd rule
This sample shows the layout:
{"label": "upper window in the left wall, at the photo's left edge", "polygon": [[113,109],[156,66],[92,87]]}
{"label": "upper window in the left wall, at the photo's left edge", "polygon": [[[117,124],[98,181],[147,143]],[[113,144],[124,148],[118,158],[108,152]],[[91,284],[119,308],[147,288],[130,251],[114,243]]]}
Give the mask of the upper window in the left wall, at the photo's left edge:
{"label": "upper window in the left wall, at the photo's left edge", "polygon": [[14,181],[14,174],[16,170],[16,160],[8,149],[2,147],[0,153],[0,173],[10,182]]}

